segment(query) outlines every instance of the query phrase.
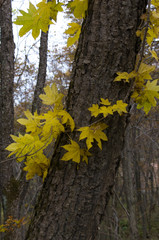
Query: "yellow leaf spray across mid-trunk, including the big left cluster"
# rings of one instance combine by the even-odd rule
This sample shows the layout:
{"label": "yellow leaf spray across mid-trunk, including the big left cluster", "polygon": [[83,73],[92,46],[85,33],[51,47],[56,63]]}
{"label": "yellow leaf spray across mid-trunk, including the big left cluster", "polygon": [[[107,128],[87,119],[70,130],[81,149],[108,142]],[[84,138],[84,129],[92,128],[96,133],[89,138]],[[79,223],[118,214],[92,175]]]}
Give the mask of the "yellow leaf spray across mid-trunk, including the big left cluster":
{"label": "yellow leaf spray across mid-trunk, including the big left cluster", "polygon": [[[11,151],[9,156],[15,155],[17,161],[24,160],[24,171],[27,172],[26,178],[31,179],[34,175],[47,176],[50,159],[44,154],[44,149],[48,147],[53,141],[57,139],[61,132],[65,132],[65,127],[74,131],[75,123],[68,112],[63,108],[62,99],[63,94],[58,92],[55,84],[51,87],[44,88],[45,94],[39,97],[42,99],[43,104],[51,106],[52,110],[47,113],[38,115],[36,112],[31,114],[29,110],[25,112],[26,118],[21,118],[18,122],[26,127],[26,134],[23,136],[11,135],[14,140],[6,149]],[[93,104],[89,108],[92,116],[103,114],[104,118],[108,114],[118,112],[120,115],[126,113],[126,103],[119,100],[116,104],[111,105],[108,99],[101,98],[100,107]],[[93,123],[90,126],[81,127],[77,131],[81,132],[79,141],[86,139],[86,147],[80,148],[79,144],[71,140],[70,144],[64,145],[63,148],[67,151],[61,160],[72,161],[80,163],[84,161],[88,164],[88,157],[91,153],[88,151],[94,141],[97,142],[100,149],[102,149],[102,140],[107,141],[108,138],[103,132],[108,126],[105,123]]]}

